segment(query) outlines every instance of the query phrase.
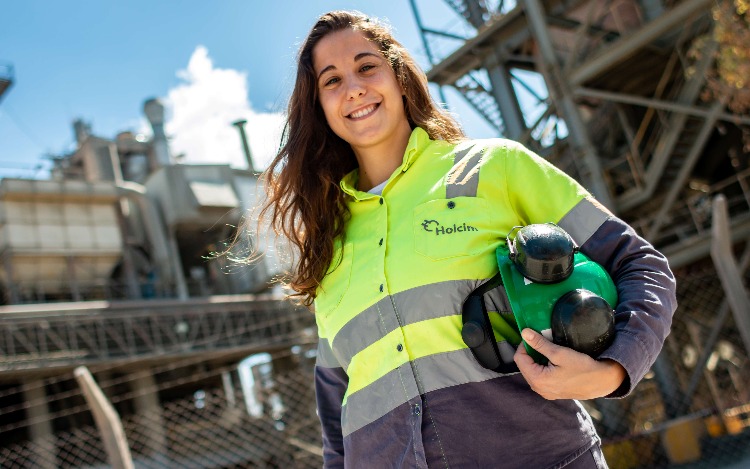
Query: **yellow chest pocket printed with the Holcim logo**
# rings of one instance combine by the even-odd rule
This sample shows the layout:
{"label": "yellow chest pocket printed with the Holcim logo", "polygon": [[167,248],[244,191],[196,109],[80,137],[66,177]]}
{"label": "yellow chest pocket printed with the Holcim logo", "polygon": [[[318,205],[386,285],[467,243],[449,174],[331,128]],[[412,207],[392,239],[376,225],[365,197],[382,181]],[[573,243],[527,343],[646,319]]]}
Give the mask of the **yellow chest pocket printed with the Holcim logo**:
{"label": "yellow chest pocket printed with the Holcim logo", "polygon": [[478,254],[492,239],[491,215],[477,197],[425,202],[414,209],[414,250],[434,260]]}

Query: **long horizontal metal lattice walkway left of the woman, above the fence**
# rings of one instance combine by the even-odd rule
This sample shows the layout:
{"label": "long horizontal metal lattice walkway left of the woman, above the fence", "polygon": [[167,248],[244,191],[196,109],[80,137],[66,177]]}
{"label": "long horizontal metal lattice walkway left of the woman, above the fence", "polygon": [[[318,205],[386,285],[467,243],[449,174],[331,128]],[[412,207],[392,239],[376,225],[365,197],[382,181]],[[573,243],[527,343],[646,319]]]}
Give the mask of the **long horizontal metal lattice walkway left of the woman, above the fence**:
{"label": "long horizontal metal lattice walkway left of the woman, above the fence", "polygon": [[314,316],[250,295],[0,308],[0,371],[256,349],[313,335]]}

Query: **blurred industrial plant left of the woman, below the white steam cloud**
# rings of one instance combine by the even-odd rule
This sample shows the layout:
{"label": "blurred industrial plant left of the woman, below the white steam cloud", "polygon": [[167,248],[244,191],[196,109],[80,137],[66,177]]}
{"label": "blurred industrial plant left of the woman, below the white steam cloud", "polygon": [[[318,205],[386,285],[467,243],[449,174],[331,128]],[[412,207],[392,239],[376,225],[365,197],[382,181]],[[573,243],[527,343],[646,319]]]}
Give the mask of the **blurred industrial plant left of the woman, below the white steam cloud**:
{"label": "blurred industrial plant left of the woman, below the white steam cloud", "polygon": [[248,170],[176,164],[144,113],[150,138],[78,120],[49,180],[0,181],[0,467],[319,465],[314,316],[269,283],[271,236],[230,244],[244,128]]}

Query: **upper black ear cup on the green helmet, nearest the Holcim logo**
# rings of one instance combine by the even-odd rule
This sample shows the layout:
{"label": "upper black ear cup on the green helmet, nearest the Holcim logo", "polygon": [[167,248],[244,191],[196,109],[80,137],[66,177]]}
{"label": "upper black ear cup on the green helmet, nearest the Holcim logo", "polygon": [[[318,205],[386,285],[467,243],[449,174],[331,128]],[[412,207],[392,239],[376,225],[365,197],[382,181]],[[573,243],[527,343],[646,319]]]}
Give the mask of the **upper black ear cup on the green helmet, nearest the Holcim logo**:
{"label": "upper black ear cup on the green helmet, nearest the Holcim logo", "polygon": [[573,273],[575,242],[552,223],[520,228],[514,239],[509,235],[508,248],[516,269],[532,282],[562,282]]}

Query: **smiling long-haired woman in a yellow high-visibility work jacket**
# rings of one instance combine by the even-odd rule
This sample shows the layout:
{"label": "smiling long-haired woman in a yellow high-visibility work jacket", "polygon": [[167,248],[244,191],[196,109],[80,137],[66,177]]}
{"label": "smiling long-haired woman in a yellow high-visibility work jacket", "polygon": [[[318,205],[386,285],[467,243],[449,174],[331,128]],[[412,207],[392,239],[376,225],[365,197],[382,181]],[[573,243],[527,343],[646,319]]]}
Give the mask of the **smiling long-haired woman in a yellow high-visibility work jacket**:
{"label": "smiling long-haired woman in a yellow high-visibility work jacket", "polygon": [[[315,304],[326,467],[606,467],[575,399],[625,396],[655,360],[675,308],[664,256],[521,145],[467,140],[356,12],[321,16],[302,44],[266,177],[264,212],[298,254],[289,286]],[[612,275],[616,338],[594,360],[524,330],[549,365],[518,347],[520,372],[484,369],[461,304],[513,226],[544,222]],[[502,288],[488,296],[510,311]]]}

